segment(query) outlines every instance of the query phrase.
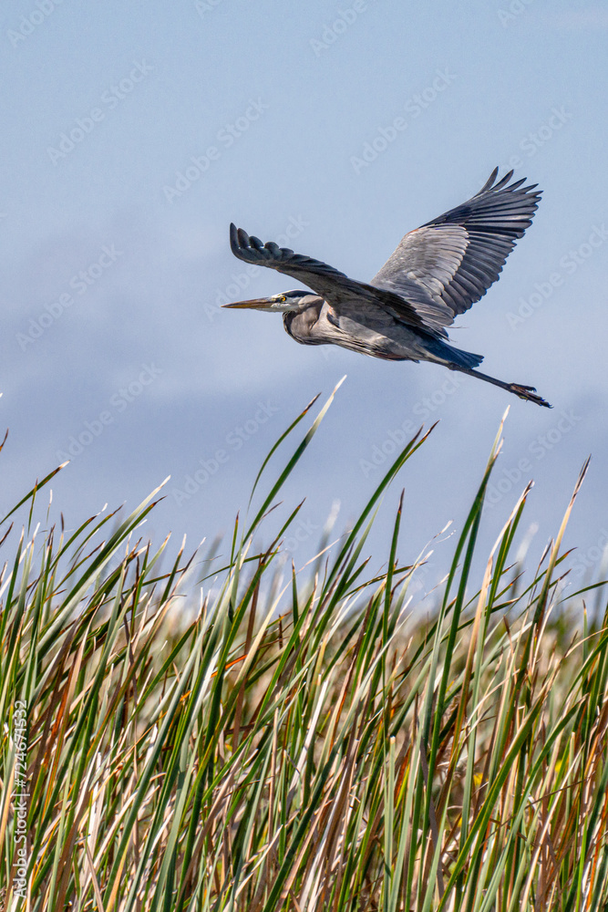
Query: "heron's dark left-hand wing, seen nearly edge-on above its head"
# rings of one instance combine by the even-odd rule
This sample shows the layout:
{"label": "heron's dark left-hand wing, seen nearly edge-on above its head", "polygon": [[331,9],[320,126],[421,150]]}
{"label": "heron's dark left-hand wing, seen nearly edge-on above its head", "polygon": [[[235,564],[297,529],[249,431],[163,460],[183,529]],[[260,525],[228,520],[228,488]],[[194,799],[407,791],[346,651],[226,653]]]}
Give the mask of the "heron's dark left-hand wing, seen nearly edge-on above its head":
{"label": "heron's dark left-hand wing, seen nearly edge-on above its head", "polygon": [[279,273],[291,275],[304,285],[308,285],[315,294],[321,295],[328,304],[337,309],[345,301],[355,299],[364,305],[383,306],[408,326],[417,326],[433,336],[445,336],[445,332],[439,326],[428,326],[425,316],[419,312],[425,308],[434,311],[437,306],[428,295],[428,291],[416,282],[407,283],[406,280],[409,290],[406,301],[397,288],[393,290],[357,282],[356,279],[349,278],[345,273],[322,263],[321,260],[315,260],[312,256],[294,254],[289,247],[279,247],[272,241],[263,244],[259,238],[247,234],[234,224],[230,226],[230,245],[232,253],[245,263],[269,266]]}

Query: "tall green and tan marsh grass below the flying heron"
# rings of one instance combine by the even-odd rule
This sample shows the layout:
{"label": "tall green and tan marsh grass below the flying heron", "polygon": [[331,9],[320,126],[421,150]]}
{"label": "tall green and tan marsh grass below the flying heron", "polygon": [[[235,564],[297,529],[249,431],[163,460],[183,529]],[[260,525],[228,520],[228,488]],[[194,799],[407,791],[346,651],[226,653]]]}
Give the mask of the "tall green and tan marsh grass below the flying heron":
{"label": "tall green and tan marsh grass below the flying heron", "polygon": [[541,565],[512,556],[526,489],[474,579],[499,433],[446,580],[408,613],[401,504],[382,573],[364,549],[387,485],[410,459],[421,471],[419,434],[353,529],[282,585],[299,508],[253,543],[328,405],[274,474],[312,403],[273,447],[223,565],[182,550],[160,569],[166,543],[138,532],[160,490],[69,534],[34,524],[52,475],[23,499],[1,586],[6,908],[608,908],[608,628],[584,607],[602,583],[562,602],[585,468]]}

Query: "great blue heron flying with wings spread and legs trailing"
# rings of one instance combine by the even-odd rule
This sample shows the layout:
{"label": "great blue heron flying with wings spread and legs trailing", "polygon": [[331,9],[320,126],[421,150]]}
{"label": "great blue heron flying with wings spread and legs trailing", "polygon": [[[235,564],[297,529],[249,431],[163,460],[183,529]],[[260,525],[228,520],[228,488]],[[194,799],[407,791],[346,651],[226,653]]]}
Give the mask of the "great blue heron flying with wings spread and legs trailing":
{"label": "great blue heron flying with wings spread and legs trailing", "polygon": [[313,289],[226,304],[283,314],[302,345],[339,345],[394,361],[432,361],[551,409],[534,387],[505,383],[474,370],[483,357],[448,345],[449,326],[499,278],[515,242],[531,225],[541,192],[526,180],[498,182],[498,168],[479,193],[456,209],[408,232],[366,285],[310,256],[294,254],[230,226],[232,253],[269,266]]}

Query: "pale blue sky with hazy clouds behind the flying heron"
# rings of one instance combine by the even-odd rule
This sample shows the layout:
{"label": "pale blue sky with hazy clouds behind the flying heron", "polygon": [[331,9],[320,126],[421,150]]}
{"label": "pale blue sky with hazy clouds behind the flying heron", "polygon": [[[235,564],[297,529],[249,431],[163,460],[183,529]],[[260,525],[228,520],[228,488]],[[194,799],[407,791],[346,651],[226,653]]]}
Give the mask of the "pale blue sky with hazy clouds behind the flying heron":
{"label": "pale blue sky with hazy clouds behind the flying heron", "polygon": [[[596,563],[608,540],[607,30],[603,5],[543,0],[9,0],[0,506],[68,453],[54,483],[68,526],[104,503],[133,507],[170,475],[149,534],[187,533],[193,547],[230,529],[273,440],[347,374],[284,492],[285,508],[306,496],[296,564],[332,504],[339,530],[423,422],[439,420],[369,546],[379,565],[401,485],[403,560],[448,520],[459,530],[508,405],[485,539],[533,478],[526,529],[538,527],[540,553],[591,452],[568,541]],[[231,221],[366,280],[497,164],[543,199],[450,337],[552,411],[432,365],[300,347],[277,316],[220,309],[294,285],[247,273]],[[451,547],[437,545],[428,580]]]}

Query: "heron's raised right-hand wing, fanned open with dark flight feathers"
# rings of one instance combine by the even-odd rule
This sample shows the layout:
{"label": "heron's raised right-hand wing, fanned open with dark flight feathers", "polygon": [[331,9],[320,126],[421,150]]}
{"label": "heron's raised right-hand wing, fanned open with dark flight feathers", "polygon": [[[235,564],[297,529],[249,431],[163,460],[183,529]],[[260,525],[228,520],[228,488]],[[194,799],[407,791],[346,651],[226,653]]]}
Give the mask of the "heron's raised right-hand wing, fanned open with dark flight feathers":
{"label": "heron's raised right-hand wing, fanned open with dark flight feathers", "polygon": [[406,295],[412,282],[432,297],[430,326],[448,326],[496,282],[515,242],[531,225],[541,192],[526,180],[495,183],[498,168],[479,193],[402,238],[371,285]]}

